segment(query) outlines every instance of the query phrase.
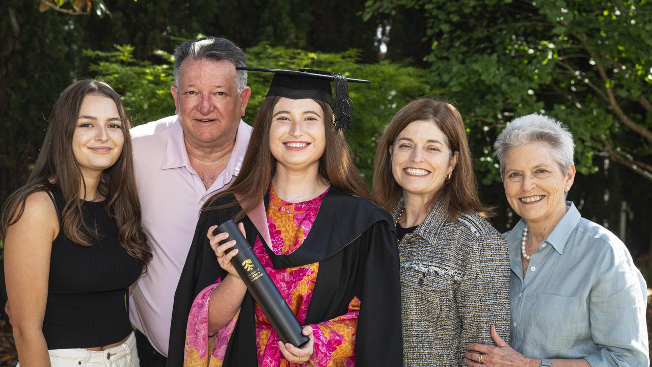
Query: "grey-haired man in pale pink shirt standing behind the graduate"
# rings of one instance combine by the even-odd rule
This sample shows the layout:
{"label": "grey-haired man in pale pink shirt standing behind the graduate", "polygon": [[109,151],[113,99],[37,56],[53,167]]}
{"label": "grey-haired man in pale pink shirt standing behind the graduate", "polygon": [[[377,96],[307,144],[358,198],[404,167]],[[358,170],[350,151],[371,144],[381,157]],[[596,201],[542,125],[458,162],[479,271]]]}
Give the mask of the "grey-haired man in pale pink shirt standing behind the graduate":
{"label": "grey-haired man in pale pink shirt standing behind the graduate", "polygon": [[203,37],[175,48],[176,116],[131,130],[142,225],[153,259],[130,297],[142,367],[164,367],[174,293],[201,206],[237,176],[251,127],[243,50]]}

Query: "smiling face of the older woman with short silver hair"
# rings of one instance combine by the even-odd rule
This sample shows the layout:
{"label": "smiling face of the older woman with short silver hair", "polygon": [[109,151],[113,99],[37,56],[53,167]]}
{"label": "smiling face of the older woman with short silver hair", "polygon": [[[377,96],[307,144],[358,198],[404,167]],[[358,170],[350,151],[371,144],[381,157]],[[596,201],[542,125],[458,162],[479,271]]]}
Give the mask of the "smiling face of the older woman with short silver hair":
{"label": "smiling face of the older woman with short silver hair", "polygon": [[552,149],[545,143],[529,143],[505,154],[505,195],[528,224],[550,222],[554,227],[566,212],[565,192],[572,186],[575,166],[563,174]]}

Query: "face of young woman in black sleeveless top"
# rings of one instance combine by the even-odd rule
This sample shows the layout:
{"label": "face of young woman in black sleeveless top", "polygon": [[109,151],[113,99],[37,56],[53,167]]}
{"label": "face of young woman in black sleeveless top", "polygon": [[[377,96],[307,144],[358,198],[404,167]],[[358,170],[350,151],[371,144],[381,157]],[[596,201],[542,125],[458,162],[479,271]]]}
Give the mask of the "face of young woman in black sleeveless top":
{"label": "face of young woman in black sleeveless top", "polygon": [[84,97],[72,134],[72,153],[82,174],[101,173],[115,164],[125,143],[122,125],[113,99],[103,95]]}

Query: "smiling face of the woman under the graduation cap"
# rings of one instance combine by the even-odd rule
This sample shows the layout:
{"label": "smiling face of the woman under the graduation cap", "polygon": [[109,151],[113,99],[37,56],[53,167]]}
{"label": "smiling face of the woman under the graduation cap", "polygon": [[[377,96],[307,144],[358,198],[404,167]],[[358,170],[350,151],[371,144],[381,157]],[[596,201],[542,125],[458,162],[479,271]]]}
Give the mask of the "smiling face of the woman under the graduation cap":
{"label": "smiling face of the woman under the graduation cap", "polygon": [[269,146],[277,169],[317,169],[326,146],[321,106],[312,99],[280,98],[272,112]]}

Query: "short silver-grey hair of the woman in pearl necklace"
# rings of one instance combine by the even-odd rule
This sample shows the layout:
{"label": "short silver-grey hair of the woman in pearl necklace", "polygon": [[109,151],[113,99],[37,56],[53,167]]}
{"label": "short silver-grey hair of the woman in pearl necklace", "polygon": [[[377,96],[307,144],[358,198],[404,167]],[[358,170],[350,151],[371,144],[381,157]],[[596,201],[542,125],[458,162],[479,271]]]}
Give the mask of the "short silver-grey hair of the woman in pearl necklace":
{"label": "short silver-grey hair of the woman in pearl necklace", "polygon": [[500,163],[500,175],[505,176],[505,155],[511,148],[529,143],[545,143],[552,147],[552,157],[565,175],[573,163],[575,143],[571,132],[554,118],[531,114],[507,124],[494,143],[494,151]]}

